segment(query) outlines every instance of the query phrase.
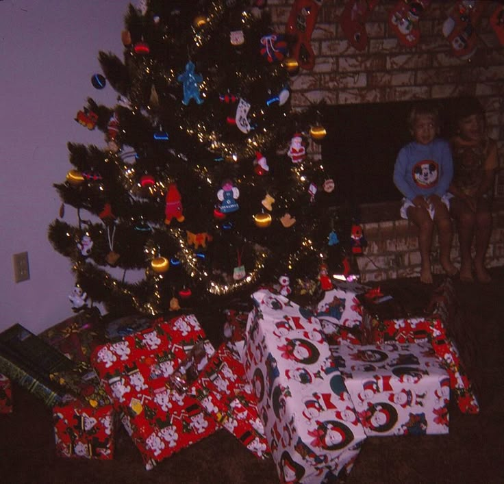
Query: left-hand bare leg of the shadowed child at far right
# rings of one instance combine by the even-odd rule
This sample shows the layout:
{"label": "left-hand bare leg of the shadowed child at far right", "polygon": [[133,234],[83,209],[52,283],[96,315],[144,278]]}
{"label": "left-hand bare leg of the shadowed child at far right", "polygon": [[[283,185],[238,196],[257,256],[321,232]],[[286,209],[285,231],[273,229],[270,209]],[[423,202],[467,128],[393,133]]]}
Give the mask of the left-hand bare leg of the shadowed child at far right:
{"label": "left-hand bare leg of the shadowed child at far right", "polygon": [[457,232],[460,246],[460,280],[472,281],[472,256],[470,253],[472,246],[472,235],[476,221],[476,214],[469,206],[457,197],[450,201],[451,214],[457,221]]}

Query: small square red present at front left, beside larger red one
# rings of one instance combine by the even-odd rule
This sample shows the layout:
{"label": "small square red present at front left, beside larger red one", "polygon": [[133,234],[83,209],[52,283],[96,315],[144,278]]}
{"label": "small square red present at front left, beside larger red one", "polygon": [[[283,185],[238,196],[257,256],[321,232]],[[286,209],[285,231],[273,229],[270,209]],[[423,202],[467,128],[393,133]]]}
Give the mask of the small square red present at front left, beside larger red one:
{"label": "small square red present at front left, beside larger red one", "polygon": [[76,398],[68,398],[53,407],[53,422],[58,457],[114,457],[112,405],[94,408]]}

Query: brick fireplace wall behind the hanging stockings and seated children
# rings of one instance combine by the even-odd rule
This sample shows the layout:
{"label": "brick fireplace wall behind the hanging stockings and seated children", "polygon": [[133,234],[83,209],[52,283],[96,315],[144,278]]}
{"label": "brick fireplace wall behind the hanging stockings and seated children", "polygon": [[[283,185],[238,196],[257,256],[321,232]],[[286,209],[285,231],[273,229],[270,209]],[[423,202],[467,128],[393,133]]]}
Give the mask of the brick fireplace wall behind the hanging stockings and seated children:
{"label": "brick fireplace wall behind the hanging stockings and seated children", "polygon": [[[498,140],[500,153],[503,153],[504,48],[488,23],[498,2],[483,1],[486,11],[477,27],[477,52],[470,60],[459,60],[451,54],[449,42],[442,36],[442,24],[455,0],[431,2],[420,18],[420,42],[411,48],[403,47],[388,26],[388,12],[396,0],[379,1],[366,23],[369,42],[364,51],[351,47],[339,25],[346,0],[325,0],[312,34],[316,64],[313,71],[302,70],[292,77],[293,107],[302,108],[320,101],[339,105],[472,94],[486,108],[490,136]],[[293,3],[292,0],[268,0],[277,32],[285,31]],[[316,157],[320,153],[313,151],[312,155]],[[500,162],[504,166],[502,156]],[[498,199],[504,197],[503,170],[496,183],[496,195]],[[395,213],[399,213],[399,209]],[[363,281],[419,274],[416,233],[409,222],[393,215],[383,220],[381,214],[376,220],[368,218],[363,225],[369,244],[366,256],[359,260]],[[440,270],[437,247],[435,241],[435,271]],[[455,238],[455,262],[458,257]],[[504,265],[504,205],[501,202],[496,203],[488,264]]]}

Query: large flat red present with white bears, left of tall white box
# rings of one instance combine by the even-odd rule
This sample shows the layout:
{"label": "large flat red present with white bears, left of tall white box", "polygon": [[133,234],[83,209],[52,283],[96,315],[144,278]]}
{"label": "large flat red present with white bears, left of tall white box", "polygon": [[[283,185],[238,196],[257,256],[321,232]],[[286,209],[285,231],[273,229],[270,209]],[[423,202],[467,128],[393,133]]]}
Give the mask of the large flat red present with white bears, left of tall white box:
{"label": "large flat red present with white bears, left of tall white box", "polygon": [[[216,422],[198,400],[171,385],[175,370],[204,337],[192,315],[168,322],[160,318],[153,327],[99,346],[91,355],[148,470],[216,430]],[[204,349],[208,356],[214,353],[210,342]],[[201,368],[206,362],[201,361]]]}

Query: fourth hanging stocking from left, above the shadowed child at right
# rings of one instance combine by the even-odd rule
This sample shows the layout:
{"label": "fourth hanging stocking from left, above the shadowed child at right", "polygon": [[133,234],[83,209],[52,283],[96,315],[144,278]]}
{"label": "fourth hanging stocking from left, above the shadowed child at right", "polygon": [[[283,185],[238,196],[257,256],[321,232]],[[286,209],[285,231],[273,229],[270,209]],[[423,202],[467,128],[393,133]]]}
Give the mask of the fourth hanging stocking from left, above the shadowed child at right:
{"label": "fourth hanging stocking from left, above the shadowed child at right", "polygon": [[485,9],[481,0],[459,0],[443,23],[443,35],[451,44],[455,57],[468,59],[476,51],[476,26]]}

